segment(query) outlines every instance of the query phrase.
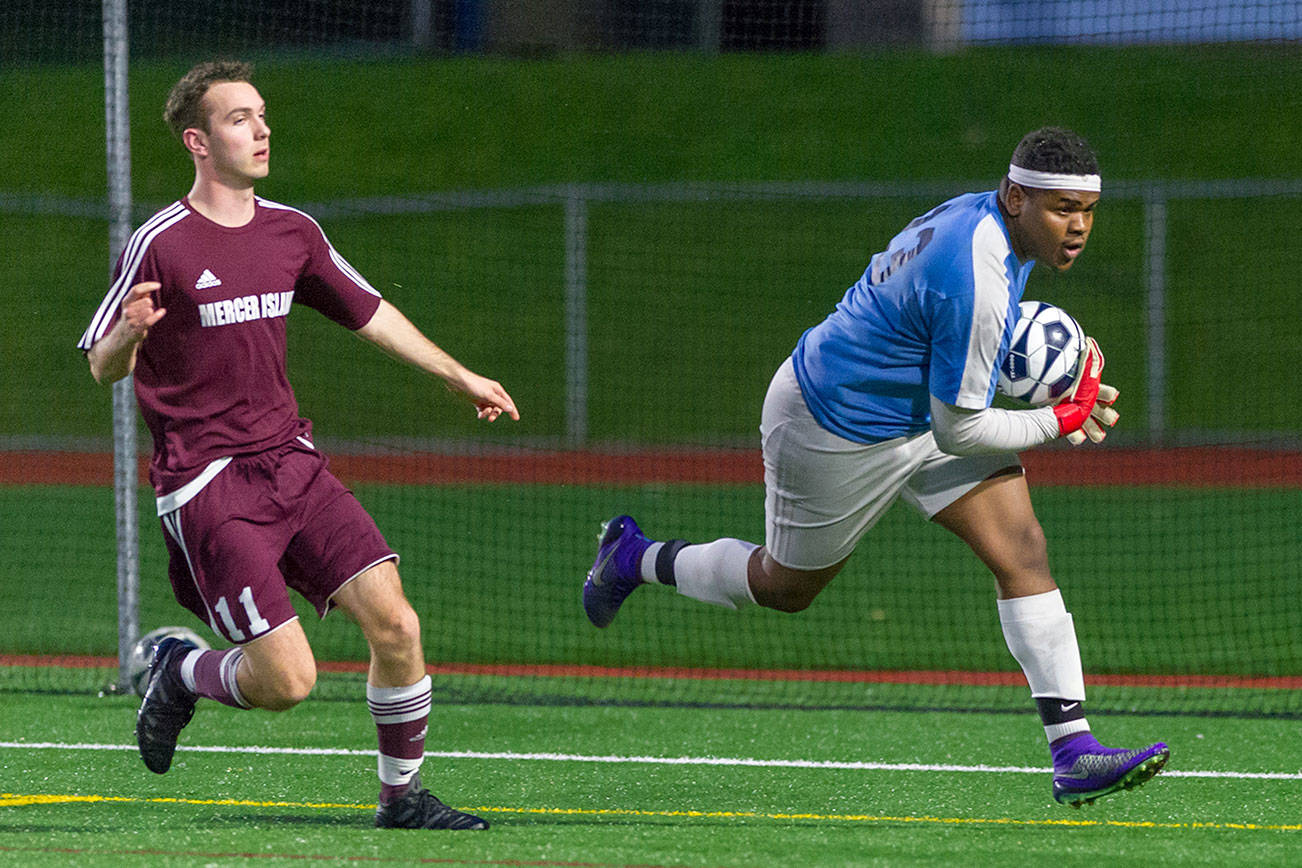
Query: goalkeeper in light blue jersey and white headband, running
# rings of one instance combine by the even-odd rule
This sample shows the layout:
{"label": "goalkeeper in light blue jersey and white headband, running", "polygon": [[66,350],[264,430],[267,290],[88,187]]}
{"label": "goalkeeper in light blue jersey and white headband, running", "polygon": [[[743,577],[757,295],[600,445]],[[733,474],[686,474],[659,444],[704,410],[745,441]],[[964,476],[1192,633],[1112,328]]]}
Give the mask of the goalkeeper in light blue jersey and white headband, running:
{"label": "goalkeeper in light blue jersey and white headband, running", "polygon": [[1059,437],[1101,441],[1116,423],[1098,344],[1087,340],[1059,405],[991,406],[1032,267],[1072,267],[1100,190],[1090,146],[1043,128],[1017,144],[999,189],[956,197],[905,226],[769,384],[764,544],[658,541],[617,515],[603,524],[583,583],[589,619],[608,626],[643,584],[734,609],[799,612],[898,497],[995,574],[1004,638],[1049,742],[1053,798],[1079,806],[1156,774],[1165,744],[1115,750],[1090,731],[1075,627],[1017,457]]}

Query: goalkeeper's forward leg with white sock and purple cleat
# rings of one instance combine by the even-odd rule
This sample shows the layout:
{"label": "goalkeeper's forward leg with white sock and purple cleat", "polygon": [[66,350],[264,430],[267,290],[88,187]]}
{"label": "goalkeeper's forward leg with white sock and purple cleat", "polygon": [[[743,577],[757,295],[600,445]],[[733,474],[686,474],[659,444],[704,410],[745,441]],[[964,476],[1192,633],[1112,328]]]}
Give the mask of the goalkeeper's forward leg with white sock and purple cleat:
{"label": "goalkeeper's forward leg with white sock and purple cleat", "polygon": [[1079,807],[1161,770],[1170,756],[1161,742],[1126,751],[1103,747],[1090,734],[1075,626],[1049,575],[1025,476],[992,476],[935,521],[963,539],[995,574],[1004,639],[1026,673],[1053,756],[1053,798]]}

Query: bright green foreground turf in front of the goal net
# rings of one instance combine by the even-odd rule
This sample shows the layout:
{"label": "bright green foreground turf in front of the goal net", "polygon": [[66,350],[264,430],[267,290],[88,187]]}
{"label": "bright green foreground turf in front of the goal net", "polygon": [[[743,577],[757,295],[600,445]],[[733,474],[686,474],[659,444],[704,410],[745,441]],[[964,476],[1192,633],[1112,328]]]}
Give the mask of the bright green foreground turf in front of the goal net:
{"label": "bright green foreground turf in front of the goal net", "polygon": [[[203,703],[167,776],[134,699],[0,703],[0,861],[22,865],[1289,865],[1297,720],[1117,716],[1163,774],[1082,809],[1049,796],[1034,714],[435,705],[423,780],[483,833],[376,830],[365,703]],[[207,748],[207,750],[199,750]],[[980,768],[974,768],[980,766]]]}

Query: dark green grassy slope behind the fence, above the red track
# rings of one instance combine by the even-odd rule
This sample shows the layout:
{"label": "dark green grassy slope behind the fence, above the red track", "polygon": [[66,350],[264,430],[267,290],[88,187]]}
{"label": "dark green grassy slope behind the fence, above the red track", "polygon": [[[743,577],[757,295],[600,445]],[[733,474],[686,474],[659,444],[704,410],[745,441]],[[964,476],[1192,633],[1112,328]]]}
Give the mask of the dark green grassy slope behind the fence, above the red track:
{"label": "dark green grassy slope behind the fence, above the red track", "polygon": [[[189,161],[159,117],[189,62],[132,70],[139,203],[189,189]],[[1285,47],[268,60],[256,83],[275,144],[259,191],[309,208],[608,182],[927,181],[961,193],[993,186],[1022,133],[1046,122],[1094,143],[1105,183],[1293,177],[1302,164],[1288,120],[1302,65]],[[0,111],[13,121],[0,128],[0,193],[104,195],[99,69],[7,70]],[[939,198],[594,204],[592,439],[751,441],[768,377],[799,333]],[[1298,429],[1294,202],[1170,203],[1165,400],[1177,432]],[[105,224],[9,211],[0,435],[107,436],[107,393],[73,349],[104,293]],[[1143,219],[1137,199],[1105,194],[1081,263],[1064,277],[1039,269],[1027,290],[1103,344],[1125,396],[1118,440],[1143,431],[1148,409]],[[564,433],[560,204],[324,224],[437,342],[510,389],[525,418],[487,436]],[[292,323],[292,379],[327,441],[482,436],[418,375],[312,312]]]}

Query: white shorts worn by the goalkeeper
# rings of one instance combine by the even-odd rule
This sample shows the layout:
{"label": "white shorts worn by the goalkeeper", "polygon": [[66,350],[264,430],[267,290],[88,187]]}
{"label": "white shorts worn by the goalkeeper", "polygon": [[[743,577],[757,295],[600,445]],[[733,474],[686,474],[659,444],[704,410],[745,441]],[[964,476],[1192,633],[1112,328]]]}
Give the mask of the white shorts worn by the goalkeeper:
{"label": "white shorts worn by the goalkeeper", "polygon": [[790,358],[777,368],[759,426],[764,448],[764,548],[793,570],[850,556],[896,497],[926,518],[1009,467],[1016,453],[950,455],[931,432],[862,444],[810,414]]}

